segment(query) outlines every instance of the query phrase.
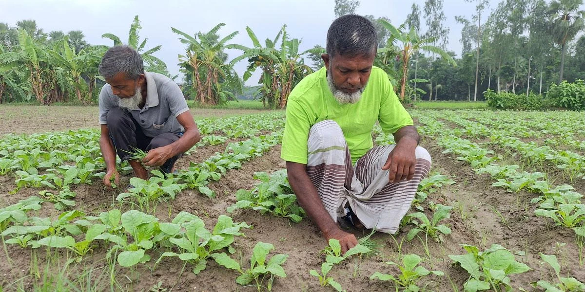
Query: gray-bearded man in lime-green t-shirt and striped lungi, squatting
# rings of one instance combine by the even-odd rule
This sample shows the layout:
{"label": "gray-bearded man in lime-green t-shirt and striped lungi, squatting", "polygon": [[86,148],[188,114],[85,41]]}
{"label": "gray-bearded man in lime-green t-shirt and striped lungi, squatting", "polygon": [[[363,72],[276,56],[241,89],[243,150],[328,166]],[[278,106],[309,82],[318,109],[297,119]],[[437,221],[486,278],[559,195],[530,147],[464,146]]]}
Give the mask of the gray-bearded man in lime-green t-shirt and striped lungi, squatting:
{"label": "gray-bearded man in lime-green t-shirt and striped lungi, squatting", "polygon": [[[325,67],[295,86],[287,102],[281,158],[298,202],[325,239],[342,251],[357,244],[336,221],[394,234],[431,157],[386,72],[374,67],[376,29],[357,15],[327,33]],[[373,147],[378,121],[395,145]]]}

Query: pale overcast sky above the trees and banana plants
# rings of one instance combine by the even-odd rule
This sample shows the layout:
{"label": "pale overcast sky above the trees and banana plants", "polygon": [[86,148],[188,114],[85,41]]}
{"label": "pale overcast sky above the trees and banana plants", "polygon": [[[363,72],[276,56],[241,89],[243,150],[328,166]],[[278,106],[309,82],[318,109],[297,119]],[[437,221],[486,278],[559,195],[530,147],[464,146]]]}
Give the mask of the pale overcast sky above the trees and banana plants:
{"label": "pale overcast sky above the trees and banana plants", "polygon": [[[422,10],[424,0],[362,0],[356,13],[386,16],[398,26],[404,22],[416,2]],[[491,8],[498,0],[492,0]],[[246,33],[250,26],[256,36],[263,40],[274,39],[283,24],[292,38],[302,39],[300,50],[304,51],[320,44],[325,47],[327,29],[335,14],[333,0],[246,0],[246,1],[189,1],[189,0],[0,0],[0,22],[14,26],[18,20],[35,19],[44,32],[51,30],[82,30],[91,44],[112,45],[109,39],[102,39],[104,33],[113,33],[122,41],[128,40],[128,30],[135,15],[139,15],[142,30],[141,40],[148,37],[146,49],[159,44],[162,48],[155,55],[166,62],[171,74],[179,74],[178,54],[184,54],[185,45],[178,35],[171,32],[175,27],[185,33],[208,32],[220,22],[226,25],[219,31],[220,36],[240,32],[232,42],[252,46]],[[461,52],[459,39],[462,26],[456,23],[455,16],[470,18],[475,4],[463,0],[445,0],[445,26],[450,28],[448,50]],[[482,17],[483,18],[483,17]],[[421,15],[422,32],[425,20]],[[229,60],[240,51],[228,50]],[[236,65],[240,76],[246,69],[246,62]],[[250,78],[247,85],[255,85],[257,76]]]}

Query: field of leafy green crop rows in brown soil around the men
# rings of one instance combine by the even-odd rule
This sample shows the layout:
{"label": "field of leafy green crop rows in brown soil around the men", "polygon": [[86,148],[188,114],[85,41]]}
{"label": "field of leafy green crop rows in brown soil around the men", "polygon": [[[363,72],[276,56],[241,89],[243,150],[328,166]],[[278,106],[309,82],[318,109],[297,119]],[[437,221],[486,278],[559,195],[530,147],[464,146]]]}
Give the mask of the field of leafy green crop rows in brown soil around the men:
{"label": "field of leafy green crop rows in brown soil around the men", "polygon": [[345,255],[288,185],[283,112],[199,119],[177,174],[118,163],[116,189],[97,128],[4,135],[0,291],[585,291],[585,116],[409,112],[431,173],[397,234],[345,227]]}

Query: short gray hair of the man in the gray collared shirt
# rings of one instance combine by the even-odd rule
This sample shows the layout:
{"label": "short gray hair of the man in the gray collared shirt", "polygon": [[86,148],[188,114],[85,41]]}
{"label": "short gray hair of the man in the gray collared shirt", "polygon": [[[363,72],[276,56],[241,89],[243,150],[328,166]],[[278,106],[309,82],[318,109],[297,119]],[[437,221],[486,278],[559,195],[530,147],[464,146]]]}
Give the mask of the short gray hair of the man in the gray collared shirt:
{"label": "short gray hair of the man in the gray collared shirt", "polygon": [[99,63],[99,74],[105,79],[111,79],[124,73],[126,79],[136,80],[144,73],[144,62],[140,54],[129,46],[115,46],[109,48]]}

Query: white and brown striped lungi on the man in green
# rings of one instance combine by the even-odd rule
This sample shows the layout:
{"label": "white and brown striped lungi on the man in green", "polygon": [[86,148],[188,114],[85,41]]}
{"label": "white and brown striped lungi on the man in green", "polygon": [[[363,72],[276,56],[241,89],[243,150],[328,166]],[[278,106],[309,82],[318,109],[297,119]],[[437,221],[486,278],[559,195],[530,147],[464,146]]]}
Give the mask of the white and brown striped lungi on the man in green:
{"label": "white and brown striped lungi on the man in green", "polygon": [[394,234],[411,206],[418,184],[431,169],[431,155],[417,147],[411,180],[390,183],[383,171],[395,145],[374,147],[352,165],[343,131],[332,120],[309,131],[307,174],[333,221],[345,215],[346,204],[368,229]]}

